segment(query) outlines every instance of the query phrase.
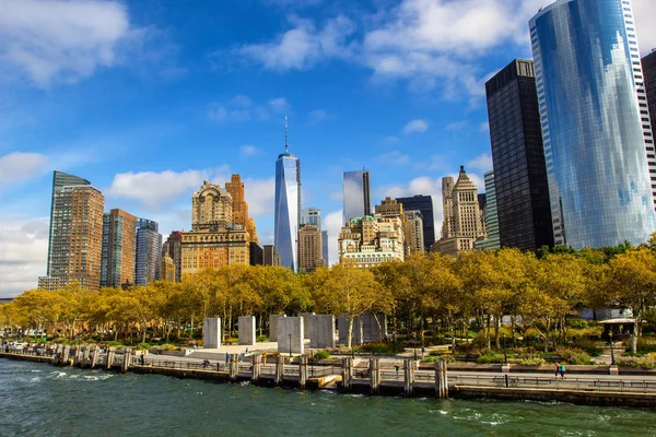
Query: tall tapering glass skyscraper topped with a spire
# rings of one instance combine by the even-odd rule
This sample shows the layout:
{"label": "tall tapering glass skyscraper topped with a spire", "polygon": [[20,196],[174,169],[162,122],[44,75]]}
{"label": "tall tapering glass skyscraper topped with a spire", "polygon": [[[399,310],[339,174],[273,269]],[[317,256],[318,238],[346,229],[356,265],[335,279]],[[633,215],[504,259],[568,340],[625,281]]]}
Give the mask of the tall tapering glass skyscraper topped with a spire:
{"label": "tall tapering glass skyscraper topped with a spire", "polygon": [[285,118],[284,153],[276,162],[276,211],[273,244],[280,264],[298,270],[298,224],[301,222],[301,162],[289,152]]}

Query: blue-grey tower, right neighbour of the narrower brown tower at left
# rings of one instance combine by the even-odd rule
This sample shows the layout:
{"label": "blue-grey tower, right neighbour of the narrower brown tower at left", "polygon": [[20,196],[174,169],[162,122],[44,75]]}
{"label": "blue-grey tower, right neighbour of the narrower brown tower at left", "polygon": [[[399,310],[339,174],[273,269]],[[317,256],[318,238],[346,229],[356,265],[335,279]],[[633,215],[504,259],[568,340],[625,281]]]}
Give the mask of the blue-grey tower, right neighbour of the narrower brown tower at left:
{"label": "blue-grey tower, right neighbour of the narrower brown tower at left", "polygon": [[162,234],[160,225],[152,220],[137,221],[137,257],[134,283],[148,285],[162,279]]}

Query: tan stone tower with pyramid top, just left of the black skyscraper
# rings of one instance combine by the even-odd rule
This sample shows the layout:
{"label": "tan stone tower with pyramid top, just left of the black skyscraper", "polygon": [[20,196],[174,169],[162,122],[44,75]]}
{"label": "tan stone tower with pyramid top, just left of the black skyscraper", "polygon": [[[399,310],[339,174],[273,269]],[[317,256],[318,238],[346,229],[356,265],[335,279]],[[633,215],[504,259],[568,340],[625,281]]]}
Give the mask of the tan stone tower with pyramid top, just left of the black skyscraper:
{"label": "tan stone tower with pyramid top, just left of the black skyscraper", "polygon": [[472,250],[478,239],[485,238],[478,189],[460,166],[458,180],[442,178],[444,223],[442,238],[435,244],[436,251],[457,257],[461,251]]}

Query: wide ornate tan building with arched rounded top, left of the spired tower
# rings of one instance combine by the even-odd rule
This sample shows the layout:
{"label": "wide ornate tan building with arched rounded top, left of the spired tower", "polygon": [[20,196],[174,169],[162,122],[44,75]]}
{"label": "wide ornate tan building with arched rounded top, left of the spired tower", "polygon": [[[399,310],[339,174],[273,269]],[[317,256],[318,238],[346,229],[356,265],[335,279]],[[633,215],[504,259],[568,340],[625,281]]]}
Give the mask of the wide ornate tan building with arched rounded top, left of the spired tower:
{"label": "wide ornate tan building with arched rounded top, left of the spired tower", "polygon": [[255,241],[247,228],[233,226],[230,192],[206,180],[191,203],[191,231],[180,233],[183,277],[206,269],[250,264],[250,244]]}

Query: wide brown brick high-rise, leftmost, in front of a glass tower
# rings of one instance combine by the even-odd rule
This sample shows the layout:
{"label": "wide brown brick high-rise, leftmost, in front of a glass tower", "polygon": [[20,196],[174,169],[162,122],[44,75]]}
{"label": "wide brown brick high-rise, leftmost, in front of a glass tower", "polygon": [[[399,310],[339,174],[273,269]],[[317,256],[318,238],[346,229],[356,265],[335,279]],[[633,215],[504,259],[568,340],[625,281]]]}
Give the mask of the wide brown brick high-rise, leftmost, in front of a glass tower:
{"label": "wide brown brick high-rise, leftmost, in front of a glass tower", "polygon": [[60,187],[54,197],[48,276],[59,286],[79,282],[98,290],[105,198],[86,185]]}

